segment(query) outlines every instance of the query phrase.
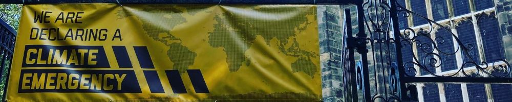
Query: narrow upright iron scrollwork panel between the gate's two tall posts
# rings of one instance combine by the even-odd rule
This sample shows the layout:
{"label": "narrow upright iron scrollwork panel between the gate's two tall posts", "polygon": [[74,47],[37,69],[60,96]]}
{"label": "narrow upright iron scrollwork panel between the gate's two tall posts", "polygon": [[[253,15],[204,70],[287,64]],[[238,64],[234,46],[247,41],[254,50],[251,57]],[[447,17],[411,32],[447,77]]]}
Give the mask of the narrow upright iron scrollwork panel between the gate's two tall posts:
{"label": "narrow upright iron scrollwork panel between the gate's two tall posts", "polygon": [[[395,39],[391,34],[391,7],[389,1],[368,0],[365,8],[365,25],[373,60],[373,87],[371,101],[401,101],[398,96],[398,66],[395,62]],[[372,82],[370,82],[372,83]]]}

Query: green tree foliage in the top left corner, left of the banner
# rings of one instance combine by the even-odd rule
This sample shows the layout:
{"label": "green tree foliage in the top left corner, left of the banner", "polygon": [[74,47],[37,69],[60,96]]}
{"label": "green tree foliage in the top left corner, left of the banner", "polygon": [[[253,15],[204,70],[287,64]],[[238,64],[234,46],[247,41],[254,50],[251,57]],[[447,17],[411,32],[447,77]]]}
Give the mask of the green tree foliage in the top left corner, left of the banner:
{"label": "green tree foliage in the top left corner, left of the banner", "polygon": [[14,30],[17,30],[21,8],[22,5],[19,4],[0,4],[0,19],[11,25]]}

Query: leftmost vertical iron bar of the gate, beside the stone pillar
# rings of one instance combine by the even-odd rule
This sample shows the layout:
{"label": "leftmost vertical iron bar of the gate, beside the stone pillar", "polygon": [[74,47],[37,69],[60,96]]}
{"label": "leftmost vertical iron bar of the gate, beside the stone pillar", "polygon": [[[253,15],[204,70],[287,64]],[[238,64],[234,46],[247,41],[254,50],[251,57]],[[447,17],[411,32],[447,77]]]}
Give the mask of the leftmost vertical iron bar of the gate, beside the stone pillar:
{"label": "leftmost vertical iron bar of the gate, beside the stone pillar", "polygon": [[[345,9],[345,28],[347,32],[347,37],[348,38],[352,38],[352,19],[351,19],[351,16],[350,16],[350,9]],[[352,102],[357,102],[357,83],[356,83],[356,72],[355,72],[355,55],[354,55],[354,48],[348,48],[349,49],[349,62],[350,62],[350,68],[349,68],[349,74],[347,75],[349,78],[350,78],[350,81],[347,81],[349,82],[349,86],[350,88],[347,88],[347,93],[349,95],[349,97],[347,97],[347,99],[349,99],[348,101],[352,101]]]}

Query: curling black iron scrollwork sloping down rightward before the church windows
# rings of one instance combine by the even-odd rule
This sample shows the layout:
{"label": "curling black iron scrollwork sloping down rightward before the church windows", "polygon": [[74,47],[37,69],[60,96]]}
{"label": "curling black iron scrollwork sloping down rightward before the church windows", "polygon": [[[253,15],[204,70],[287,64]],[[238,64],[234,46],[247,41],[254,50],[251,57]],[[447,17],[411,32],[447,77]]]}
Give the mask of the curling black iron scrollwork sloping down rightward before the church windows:
{"label": "curling black iron scrollwork sloping down rightward before the church windows", "polygon": [[[411,10],[406,9],[401,6],[397,1],[397,15],[398,17],[419,17],[422,20],[428,21],[427,27],[420,28],[419,30],[414,30],[412,28],[405,28],[401,31],[402,36],[400,36],[401,40],[401,48],[406,49],[414,49],[413,45],[416,45],[417,55],[413,54],[413,61],[403,62],[403,66],[406,71],[407,77],[415,77],[418,76],[418,72],[415,67],[418,67],[420,71],[427,72],[428,74],[434,77],[477,77],[474,73],[485,74],[488,77],[494,78],[506,78],[510,77],[510,64],[505,59],[495,59],[494,62],[486,62],[486,61],[478,61],[474,56],[470,55],[472,50],[478,50],[476,45],[473,44],[464,44],[461,39],[458,38],[456,34],[451,31],[450,26],[442,25],[436,21],[433,21],[427,17],[424,17],[420,14],[417,14]],[[435,28],[439,30],[445,30],[450,34],[450,38],[445,38],[443,36],[436,36],[435,38],[430,37],[430,35],[435,32]],[[447,40],[454,40],[453,43],[457,45],[454,49],[454,52],[446,52],[442,50],[439,46],[442,44],[450,44],[445,43]],[[412,52],[412,51],[411,51]],[[421,58],[420,53],[425,54],[423,58]],[[463,61],[459,68],[457,68],[456,72],[448,73],[448,74],[438,74],[435,71],[429,70],[428,68],[440,68],[443,65],[443,57],[442,56],[455,56],[456,54],[461,53],[462,57],[467,57],[467,61]],[[491,63],[491,64],[489,64]],[[405,67],[408,66],[408,67]],[[468,71],[468,66],[474,66],[475,71]],[[498,73],[498,74],[497,74]]]}

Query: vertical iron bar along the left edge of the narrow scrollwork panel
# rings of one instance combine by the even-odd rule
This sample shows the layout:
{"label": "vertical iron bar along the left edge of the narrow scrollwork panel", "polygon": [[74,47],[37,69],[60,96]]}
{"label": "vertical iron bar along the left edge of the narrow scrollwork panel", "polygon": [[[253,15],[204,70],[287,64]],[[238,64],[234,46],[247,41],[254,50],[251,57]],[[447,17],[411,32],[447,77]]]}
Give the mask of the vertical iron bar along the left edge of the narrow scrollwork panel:
{"label": "vertical iron bar along the left edge of the narrow scrollwork panel", "polygon": [[357,53],[361,54],[361,60],[362,60],[362,85],[363,85],[363,94],[365,96],[365,101],[371,101],[371,93],[370,93],[370,78],[369,78],[369,72],[368,72],[368,49],[366,48],[366,37],[365,34],[365,14],[363,9],[363,3],[364,1],[359,1],[357,4],[357,21],[358,21],[358,29],[359,32],[357,33],[358,38],[362,38],[364,42],[361,46],[359,46]]}

